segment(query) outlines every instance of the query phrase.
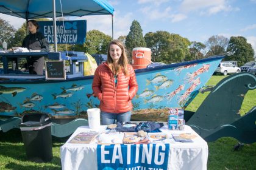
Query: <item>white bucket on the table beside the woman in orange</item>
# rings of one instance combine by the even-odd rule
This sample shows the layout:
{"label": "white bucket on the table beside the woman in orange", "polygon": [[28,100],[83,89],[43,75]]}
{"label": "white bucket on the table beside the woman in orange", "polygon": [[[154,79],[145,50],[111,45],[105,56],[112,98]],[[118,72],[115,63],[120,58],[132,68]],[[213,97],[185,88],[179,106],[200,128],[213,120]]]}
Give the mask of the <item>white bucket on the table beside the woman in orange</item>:
{"label": "white bucket on the table beside the woman in orange", "polygon": [[91,129],[98,129],[101,126],[100,110],[98,108],[88,109],[88,123]]}

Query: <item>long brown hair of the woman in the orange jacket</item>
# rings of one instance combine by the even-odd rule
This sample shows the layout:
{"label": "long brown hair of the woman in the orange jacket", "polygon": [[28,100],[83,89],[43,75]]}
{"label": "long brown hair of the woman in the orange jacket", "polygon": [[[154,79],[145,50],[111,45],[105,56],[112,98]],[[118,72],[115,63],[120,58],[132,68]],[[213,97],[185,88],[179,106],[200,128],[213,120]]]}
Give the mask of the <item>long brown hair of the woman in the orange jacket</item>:
{"label": "long brown hair of the woman in the orange jacket", "polygon": [[[117,67],[114,67],[114,62],[110,56],[110,45],[112,44],[115,44],[117,45],[118,47],[120,47],[120,49],[122,50],[122,54],[118,60],[118,66]],[[124,44],[115,39],[115,40],[112,40],[109,44],[108,44],[108,49],[107,49],[107,63],[108,63],[108,66],[110,67],[110,69],[112,70],[112,72],[116,75],[119,70],[123,70],[124,72],[124,75],[128,75],[128,70],[127,70],[127,66],[129,64],[129,60],[127,58],[127,55],[126,55],[126,49],[124,47]]]}

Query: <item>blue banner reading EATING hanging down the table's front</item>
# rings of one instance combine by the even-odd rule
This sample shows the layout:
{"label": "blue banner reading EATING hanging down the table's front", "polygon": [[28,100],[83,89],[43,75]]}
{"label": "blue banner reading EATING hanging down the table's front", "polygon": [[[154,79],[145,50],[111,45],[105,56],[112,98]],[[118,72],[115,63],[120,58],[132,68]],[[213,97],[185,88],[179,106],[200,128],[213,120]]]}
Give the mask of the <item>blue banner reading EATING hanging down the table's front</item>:
{"label": "blue banner reading EATING hanging down the table's front", "polygon": [[98,170],[164,170],[169,144],[98,144]]}

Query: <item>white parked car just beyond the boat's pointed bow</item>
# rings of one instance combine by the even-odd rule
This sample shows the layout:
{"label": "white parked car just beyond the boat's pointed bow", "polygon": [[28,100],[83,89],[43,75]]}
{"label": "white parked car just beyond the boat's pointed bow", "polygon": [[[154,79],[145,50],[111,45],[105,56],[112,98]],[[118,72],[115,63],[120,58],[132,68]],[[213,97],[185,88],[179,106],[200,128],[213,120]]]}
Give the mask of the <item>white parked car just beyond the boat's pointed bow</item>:
{"label": "white parked car just beyond the boat's pointed bow", "polygon": [[219,66],[215,70],[215,73],[221,73],[223,75],[227,75],[229,73],[239,73],[240,68],[236,67],[232,63],[226,63],[226,62],[221,62],[219,63]]}

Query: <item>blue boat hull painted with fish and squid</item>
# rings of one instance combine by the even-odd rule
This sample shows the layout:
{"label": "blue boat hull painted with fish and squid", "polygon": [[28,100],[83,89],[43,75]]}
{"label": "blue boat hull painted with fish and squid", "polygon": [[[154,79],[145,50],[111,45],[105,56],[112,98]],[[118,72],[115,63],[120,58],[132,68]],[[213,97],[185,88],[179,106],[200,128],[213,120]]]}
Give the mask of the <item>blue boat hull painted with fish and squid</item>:
{"label": "blue boat hull painted with fish and squid", "polygon": [[[135,70],[139,84],[132,120],[165,120],[169,107],[185,108],[207,83],[224,56]],[[43,112],[51,118],[87,117],[98,107],[93,76],[68,80],[1,80],[0,115]],[[157,114],[155,114],[157,112]]]}

